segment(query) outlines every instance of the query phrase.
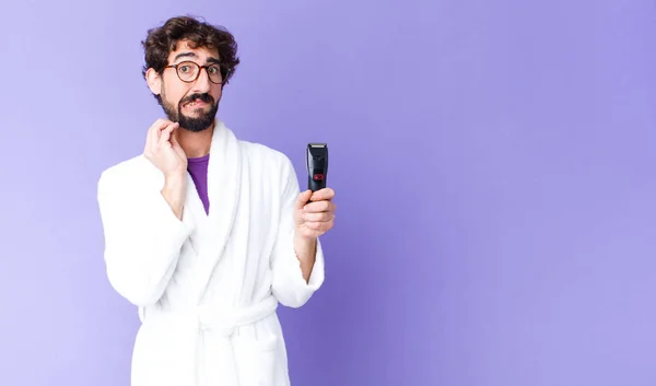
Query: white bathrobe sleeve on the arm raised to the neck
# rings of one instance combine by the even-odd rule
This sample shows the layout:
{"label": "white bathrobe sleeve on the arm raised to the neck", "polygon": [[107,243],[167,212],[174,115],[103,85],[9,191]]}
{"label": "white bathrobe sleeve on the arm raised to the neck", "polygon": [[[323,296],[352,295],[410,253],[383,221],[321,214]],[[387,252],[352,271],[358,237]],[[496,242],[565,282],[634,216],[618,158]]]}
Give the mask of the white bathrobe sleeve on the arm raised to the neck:
{"label": "white bathrobe sleeve on the arm raised to the neck", "polygon": [[156,184],[106,171],[97,185],[112,286],[130,303],[156,303],[176,268],[191,230],[179,221]]}

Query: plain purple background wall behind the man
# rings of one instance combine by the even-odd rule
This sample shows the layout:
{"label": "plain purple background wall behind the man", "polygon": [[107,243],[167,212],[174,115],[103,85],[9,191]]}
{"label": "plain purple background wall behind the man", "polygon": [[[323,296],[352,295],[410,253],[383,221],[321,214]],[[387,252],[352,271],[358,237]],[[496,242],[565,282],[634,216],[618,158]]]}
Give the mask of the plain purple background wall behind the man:
{"label": "plain purple background wall behind the man", "polygon": [[181,3],[2,0],[0,384],[129,384],[96,182],[161,116],[139,43],[180,13],[236,34],[239,137],[301,184],[330,147],[293,385],[656,384],[652,1]]}

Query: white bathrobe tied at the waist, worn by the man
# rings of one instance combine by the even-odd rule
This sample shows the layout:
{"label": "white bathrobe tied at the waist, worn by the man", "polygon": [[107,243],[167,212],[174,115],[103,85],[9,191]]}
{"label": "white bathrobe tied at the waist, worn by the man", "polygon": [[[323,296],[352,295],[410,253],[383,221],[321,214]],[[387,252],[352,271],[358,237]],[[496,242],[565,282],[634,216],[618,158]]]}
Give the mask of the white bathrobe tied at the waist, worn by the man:
{"label": "white bathrobe tied at the waist, worn by the man", "polygon": [[131,385],[290,385],[276,309],[302,306],[324,282],[320,243],[308,283],[294,253],[290,160],[216,120],[209,215],[190,176],[181,221],[163,184],[141,155],[98,182],[108,280],[142,321]]}

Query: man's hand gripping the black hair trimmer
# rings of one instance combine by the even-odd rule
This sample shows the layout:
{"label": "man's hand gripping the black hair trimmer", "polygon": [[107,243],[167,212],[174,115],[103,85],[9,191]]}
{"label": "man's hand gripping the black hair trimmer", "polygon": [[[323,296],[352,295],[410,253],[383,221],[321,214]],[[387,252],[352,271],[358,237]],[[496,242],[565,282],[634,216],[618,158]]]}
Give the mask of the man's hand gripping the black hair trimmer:
{"label": "man's hand gripping the black hair trimmer", "polygon": [[298,195],[294,210],[297,235],[315,239],[332,229],[337,209],[333,197],[335,191],[330,188],[315,192],[308,189]]}

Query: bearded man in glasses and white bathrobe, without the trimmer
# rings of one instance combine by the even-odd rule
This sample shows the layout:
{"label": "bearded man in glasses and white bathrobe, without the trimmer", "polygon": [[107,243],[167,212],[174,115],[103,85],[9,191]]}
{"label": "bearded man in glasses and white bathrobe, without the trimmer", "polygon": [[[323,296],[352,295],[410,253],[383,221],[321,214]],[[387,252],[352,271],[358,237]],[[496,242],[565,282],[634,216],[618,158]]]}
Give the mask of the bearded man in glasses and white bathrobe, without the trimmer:
{"label": "bearded man in glasses and white bathrobe, without the trimmer", "polygon": [[276,309],[324,282],[335,192],[301,192],[285,155],[215,118],[239,63],[229,32],[174,17],[143,47],[167,119],[98,180],[107,276],[142,321],[131,384],[289,385]]}

